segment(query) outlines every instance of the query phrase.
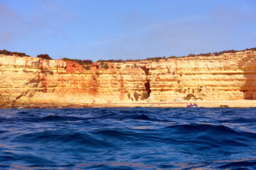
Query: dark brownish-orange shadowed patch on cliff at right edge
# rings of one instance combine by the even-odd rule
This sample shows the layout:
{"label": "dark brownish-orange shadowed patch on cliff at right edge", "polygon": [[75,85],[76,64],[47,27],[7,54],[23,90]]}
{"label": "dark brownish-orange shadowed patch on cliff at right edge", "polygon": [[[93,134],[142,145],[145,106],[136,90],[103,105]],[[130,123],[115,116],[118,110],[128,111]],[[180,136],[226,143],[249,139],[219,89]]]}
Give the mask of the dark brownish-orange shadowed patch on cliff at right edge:
{"label": "dark brownish-orange shadowed patch on cliff at right edge", "polygon": [[245,77],[245,84],[241,86],[240,91],[244,99],[256,99],[256,52],[248,52],[247,57],[241,60],[239,67],[242,68]]}

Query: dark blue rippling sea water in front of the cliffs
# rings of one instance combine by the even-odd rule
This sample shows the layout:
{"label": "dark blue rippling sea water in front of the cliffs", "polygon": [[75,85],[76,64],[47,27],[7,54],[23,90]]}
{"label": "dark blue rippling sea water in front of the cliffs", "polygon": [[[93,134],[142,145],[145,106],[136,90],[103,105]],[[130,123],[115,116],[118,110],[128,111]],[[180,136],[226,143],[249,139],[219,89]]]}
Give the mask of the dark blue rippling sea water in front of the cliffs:
{"label": "dark blue rippling sea water in front of the cliffs", "polygon": [[256,108],[2,109],[0,169],[256,169]]}

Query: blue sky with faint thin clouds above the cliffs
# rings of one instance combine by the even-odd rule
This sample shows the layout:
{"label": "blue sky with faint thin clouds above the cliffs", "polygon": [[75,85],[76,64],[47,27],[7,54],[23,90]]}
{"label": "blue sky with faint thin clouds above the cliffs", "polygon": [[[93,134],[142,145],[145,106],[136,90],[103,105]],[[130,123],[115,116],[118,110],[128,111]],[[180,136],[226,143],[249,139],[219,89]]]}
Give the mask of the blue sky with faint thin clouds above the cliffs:
{"label": "blue sky with faint thin clouds above the cliffs", "polygon": [[256,47],[255,0],[0,0],[0,50],[127,60]]}

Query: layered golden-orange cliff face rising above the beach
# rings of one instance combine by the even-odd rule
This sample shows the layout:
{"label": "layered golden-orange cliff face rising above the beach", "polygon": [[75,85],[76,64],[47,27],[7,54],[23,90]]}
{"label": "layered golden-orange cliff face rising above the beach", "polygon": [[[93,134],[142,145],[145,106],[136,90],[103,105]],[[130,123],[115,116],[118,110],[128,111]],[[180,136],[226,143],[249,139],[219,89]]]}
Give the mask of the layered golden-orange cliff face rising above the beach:
{"label": "layered golden-orange cliff face rising above the beach", "polygon": [[136,101],[256,99],[256,52],[218,57],[93,63],[0,55],[0,107],[70,106]]}

